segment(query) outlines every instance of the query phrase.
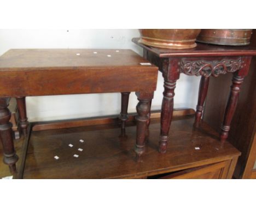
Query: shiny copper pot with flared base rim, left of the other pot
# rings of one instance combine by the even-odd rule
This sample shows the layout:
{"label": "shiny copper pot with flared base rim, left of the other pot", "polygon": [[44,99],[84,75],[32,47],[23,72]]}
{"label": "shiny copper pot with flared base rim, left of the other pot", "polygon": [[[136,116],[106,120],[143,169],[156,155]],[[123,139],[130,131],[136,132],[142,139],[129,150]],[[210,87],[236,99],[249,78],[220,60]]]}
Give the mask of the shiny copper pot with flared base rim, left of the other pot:
{"label": "shiny copper pot with flared base rim, left of the other pot", "polygon": [[201,29],[139,29],[139,42],[159,48],[194,48]]}

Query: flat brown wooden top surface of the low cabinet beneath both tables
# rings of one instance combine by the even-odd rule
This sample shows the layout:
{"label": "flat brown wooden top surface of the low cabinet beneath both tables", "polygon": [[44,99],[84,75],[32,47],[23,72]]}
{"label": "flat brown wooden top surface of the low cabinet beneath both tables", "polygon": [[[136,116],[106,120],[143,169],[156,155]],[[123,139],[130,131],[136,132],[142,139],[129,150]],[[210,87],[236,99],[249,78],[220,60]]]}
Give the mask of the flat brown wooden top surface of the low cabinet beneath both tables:
{"label": "flat brown wooden top surface of the low cabinet beneath both tables", "polygon": [[[101,179],[141,178],[145,175],[196,167],[209,160],[223,161],[239,152],[226,142],[220,144],[218,134],[207,124],[193,128],[194,116],[174,118],[166,154],[158,153],[159,119],[150,124],[150,137],[142,162],[135,161],[133,148],[136,126],[129,123],[126,138],[120,138],[117,124],[73,127],[59,130],[32,131],[24,179]],[[81,143],[79,140],[83,139]],[[21,142],[16,149],[21,155]],[[70,147],[69,144],[73,146]],[[78,151],[78,148],[83,151]],[[196,149],[198,150],[196,150]],[[77,154],[79,157],[74,157]],[[55,160],[54,156],[59,156]],[[20,160],[21,161],[21,160]],[[9,175],[0,164],[1,176]],[[138,174],[139,173],[139,174]]]}

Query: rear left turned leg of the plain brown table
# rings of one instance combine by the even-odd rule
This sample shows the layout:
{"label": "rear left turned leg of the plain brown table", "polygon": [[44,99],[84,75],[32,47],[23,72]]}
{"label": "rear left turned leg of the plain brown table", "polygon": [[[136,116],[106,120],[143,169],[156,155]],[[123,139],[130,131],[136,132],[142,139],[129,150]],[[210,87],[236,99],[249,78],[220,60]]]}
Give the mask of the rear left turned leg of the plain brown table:
{"label": "rear left turned leg of the plain brown table", "polygon": [[19,110],[20,127],[24,136],[27,135],[27,127],[28,127],[25,98],[26,97],[16,97],[17,106]]}

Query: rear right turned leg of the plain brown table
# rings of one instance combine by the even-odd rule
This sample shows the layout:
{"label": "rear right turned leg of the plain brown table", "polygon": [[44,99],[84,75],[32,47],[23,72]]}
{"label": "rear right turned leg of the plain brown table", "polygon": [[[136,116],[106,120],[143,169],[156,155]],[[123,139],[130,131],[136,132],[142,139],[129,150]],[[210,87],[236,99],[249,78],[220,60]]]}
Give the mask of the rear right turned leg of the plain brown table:
{"label": "rear right turned leg of the plain brown table", "polygon": [[128,120],[127,110],[128,110],[128,103],[129,103],[129,95],[130,95],[130,92],[121,93],[121,112],[119,115],[119,119],[122,121],[121,137],[125,136],[125,122]]}

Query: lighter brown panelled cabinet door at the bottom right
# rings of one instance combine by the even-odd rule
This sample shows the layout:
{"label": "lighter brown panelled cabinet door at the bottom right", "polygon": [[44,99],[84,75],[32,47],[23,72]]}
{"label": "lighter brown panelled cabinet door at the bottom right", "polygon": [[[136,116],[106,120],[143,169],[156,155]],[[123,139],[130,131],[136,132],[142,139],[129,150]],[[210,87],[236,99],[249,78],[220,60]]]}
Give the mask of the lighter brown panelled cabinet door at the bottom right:
{"label": "lighter brown panelled cabinet door at the bottom right", "polygon": [[162,176],[158,179],[226,179],[230,161],[190,168]]}

